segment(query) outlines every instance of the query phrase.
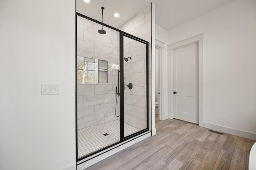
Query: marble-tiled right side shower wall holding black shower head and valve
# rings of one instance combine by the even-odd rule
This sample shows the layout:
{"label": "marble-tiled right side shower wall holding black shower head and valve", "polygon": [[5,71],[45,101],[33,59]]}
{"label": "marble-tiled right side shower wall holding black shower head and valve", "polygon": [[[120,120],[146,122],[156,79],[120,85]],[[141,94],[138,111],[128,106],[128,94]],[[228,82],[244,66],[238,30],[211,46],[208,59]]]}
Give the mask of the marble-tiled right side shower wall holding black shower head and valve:
{"label": "marble-tiled right side shower wall holding black shower head and valve", "polygon": [[[144,39],[151,44],[151,5],[124,24],[122,31]],[[127,40],[127,41],[126,41]],[[132,90],[124,90],[124,122],[138,129],[146,128],[146,45],[137,41],[130,41],[124,37],[124,57],[132,57],[124,61],[124,82],[132,82]],[[149,49],[149,61],[150,61]],[[151,62],[149,62],[149,68]],[[149,69],[149,78],[151,73]],[[149,79],[149,82],[151,80]],[[149,84],[149,89],[150,89]],[[151,96],[151,90],[149,90]],[[150,98],[149,98],[150,101]],[[150,108],[150,106],[149,106]],[[151,110],[151,109],[150,109]],[[151,111],[149,110],[149,115]],[[150,116],[149,116],[150,117]],[[151,119],[149,120],[151,121]]]}

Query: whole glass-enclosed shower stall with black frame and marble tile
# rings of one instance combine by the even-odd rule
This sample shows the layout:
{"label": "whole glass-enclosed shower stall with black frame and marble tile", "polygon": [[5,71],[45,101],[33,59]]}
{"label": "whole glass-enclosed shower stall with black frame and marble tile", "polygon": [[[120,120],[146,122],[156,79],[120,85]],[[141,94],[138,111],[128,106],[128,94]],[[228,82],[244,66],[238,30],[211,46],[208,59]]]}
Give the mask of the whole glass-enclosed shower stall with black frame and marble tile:
{"label": "whole glass-enclosed shower stall with black frame and marble tile", "polygon": [[77,160],[150,130],[148,55],[147,41],[77,13]]}

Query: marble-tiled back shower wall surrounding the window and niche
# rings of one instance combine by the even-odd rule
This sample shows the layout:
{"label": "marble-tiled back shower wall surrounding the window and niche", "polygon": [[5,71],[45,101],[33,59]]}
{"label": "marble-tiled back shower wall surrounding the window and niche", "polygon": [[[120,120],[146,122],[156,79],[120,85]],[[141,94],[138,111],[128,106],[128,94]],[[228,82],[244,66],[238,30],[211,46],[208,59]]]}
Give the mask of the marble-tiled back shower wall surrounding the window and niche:
{"label": "marble-tiled back shower wall surrounding the window and niche", "polygon": [[99,29],[101,29],[101,25],[98,23],[78,16],[78,60],[87,57],[108,61],[108,83],[78,84],[78,129],[117,119],[114,109],[116,105],[116,86],[118,86],[118,70],[113,69],[112,65],[119,64],[119,33],[103,27],[106,34],[101,35],[98,33]]}

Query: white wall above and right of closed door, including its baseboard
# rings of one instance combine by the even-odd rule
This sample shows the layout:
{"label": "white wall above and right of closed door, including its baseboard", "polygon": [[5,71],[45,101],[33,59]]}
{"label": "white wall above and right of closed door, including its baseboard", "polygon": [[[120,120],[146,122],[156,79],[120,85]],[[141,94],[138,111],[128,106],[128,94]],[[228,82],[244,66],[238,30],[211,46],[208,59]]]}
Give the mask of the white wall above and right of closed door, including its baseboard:
{"label": "white wall above and right of closed door, including its baseboard", "polygon": [[169,44],[204,33],[204,126],[254,140],[255,30],[256,1],[236,0],[168,31]]}

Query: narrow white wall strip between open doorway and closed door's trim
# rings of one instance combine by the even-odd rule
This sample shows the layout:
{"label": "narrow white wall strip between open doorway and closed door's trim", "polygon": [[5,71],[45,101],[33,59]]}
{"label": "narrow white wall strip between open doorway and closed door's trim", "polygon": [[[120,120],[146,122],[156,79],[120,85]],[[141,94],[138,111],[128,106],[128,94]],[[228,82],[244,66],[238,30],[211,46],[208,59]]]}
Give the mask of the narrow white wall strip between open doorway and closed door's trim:
{"label": "narrow white wall strip between open doorway and closed door's trim", "polygon": [[[168,119],[168,31],[156,24],[156,40],[162,45],[162,117],[160,120]],[[158,44],[158,43],[156,43]],[[159,44],[158,44],[159,45]],[[159,107],[159,106],[158,106]]]}

